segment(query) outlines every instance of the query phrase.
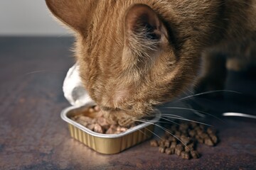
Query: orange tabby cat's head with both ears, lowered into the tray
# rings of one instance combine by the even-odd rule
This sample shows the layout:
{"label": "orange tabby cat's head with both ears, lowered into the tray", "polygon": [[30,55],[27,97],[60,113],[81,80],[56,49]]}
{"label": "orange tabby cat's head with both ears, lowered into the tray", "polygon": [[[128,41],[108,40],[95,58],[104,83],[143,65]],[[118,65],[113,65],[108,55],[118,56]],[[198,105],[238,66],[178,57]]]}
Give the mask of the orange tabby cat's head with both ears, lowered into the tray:
{"label": "orange tabby cat's head with both ears, lowered into the tray", "polygon": [[75,31],[85,89],[102,111],[121,122],[171,101],[197,77],[198,39],[164,3],[46,2]]}

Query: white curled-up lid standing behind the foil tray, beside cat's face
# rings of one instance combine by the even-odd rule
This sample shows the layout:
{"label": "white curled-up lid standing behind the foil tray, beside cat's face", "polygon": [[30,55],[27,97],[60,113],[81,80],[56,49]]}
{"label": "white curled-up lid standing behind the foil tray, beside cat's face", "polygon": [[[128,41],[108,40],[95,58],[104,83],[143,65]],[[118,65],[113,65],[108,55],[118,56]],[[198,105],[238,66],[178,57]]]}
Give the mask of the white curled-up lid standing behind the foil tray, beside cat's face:
{"label": "white curled-up lid standing behind the foil tray, beside cat's face", "polygon": [[69,103],[73,106],[84,106],[88,103],[95,104],[95,101],[92,101],[92,98],[90,98],[82,85],[77,63],[68,70],[63,82],[63,92],[65,98],[67,98]]}

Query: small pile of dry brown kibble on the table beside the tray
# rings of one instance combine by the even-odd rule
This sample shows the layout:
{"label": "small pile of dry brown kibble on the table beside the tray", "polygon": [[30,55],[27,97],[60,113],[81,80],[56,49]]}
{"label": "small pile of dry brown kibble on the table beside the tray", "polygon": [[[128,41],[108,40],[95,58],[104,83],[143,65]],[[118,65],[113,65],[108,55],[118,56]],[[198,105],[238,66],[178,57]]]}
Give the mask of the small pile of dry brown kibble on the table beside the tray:
{"label": "small pile of dry brown kibble on the table beside the tray", "polygon": [[200,157],[200,154],[196,151],[198,143],[208,146],[214,146],[218,143],[216,130],[206,128],[198,123],[171,125],[167,130],[161,140],[151,140],[151,146],[159,146],[159,152],[176,154],[183,159],[197,159]]}

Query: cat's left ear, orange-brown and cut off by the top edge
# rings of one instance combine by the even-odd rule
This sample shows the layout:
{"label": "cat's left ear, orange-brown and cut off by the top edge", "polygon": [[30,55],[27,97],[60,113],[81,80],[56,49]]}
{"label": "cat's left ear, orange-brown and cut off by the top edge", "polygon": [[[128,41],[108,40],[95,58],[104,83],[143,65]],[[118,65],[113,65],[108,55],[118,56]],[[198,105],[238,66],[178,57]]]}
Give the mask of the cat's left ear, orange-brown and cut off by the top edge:
{"label": "cat's left ear, orange-brown and cut off by the top edge", "polygon": [[85,30],[90,4],[85,0],[46,0],[53,15],[77,32]]}

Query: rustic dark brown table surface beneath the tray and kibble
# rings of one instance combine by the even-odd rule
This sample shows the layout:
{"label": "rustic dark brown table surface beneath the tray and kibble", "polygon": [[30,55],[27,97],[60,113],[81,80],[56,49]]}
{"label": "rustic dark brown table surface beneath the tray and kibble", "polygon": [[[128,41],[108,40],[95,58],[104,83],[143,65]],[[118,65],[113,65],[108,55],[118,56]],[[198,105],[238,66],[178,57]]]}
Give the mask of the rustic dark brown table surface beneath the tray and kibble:
{"label": "rustic dark brown table surface beneath the tray and kibble", "polygon": [[[60,111],[69,106],[62,84],[74,62],[72,42],[73,38],[0,38],[0,169],[256,169],[256,123],[248,118],[195,116],[214,125],[220,137],[215,147],[199,145],[200,159],[161,154],[149,147],[149,141],[103,155],[73,140],[60,119]],[[190,99],[195,107],[203,104],[216,115],[255,115],[255,73],[231,75],[228,86],[242,94],[217,101]]]}

